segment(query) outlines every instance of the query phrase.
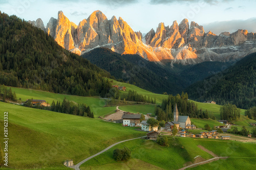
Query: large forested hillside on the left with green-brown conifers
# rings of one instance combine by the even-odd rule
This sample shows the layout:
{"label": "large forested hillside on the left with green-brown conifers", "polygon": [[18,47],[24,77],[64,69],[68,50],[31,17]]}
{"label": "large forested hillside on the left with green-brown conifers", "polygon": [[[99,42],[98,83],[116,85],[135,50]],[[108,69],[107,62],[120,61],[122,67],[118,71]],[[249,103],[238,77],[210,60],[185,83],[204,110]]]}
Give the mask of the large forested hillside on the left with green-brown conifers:
{"label": "large forested hillside on the left with green-brown conifers", "polygon": [[0,84],[104,96],[109,72],[59,46],[28,22],[0,12]]}

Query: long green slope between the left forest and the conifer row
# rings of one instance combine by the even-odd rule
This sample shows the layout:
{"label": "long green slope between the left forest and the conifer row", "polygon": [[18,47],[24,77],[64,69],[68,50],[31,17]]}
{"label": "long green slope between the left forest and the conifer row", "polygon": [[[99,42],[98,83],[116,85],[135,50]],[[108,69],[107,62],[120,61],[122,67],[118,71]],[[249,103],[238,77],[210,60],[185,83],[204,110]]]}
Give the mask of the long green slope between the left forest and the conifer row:
{"label": "long green slope between the left forest and the conifer row", "polygon": [[86,103],[90,106],[91,111],[94,113],[95,116],[102,116],[105,114],[109,114],[110,112],[114,111],[116,107],[104,107],[106,105],[106,101],[104,99],[100,99],[97,97],[82,97],[76,95],[67,95],[67,94],[56,94],[47,91],[40,91],[40,90],[32,90],[32,89],[24,89],[24,88],[16,88],[12,87],[12,91],[15,91],[17,99],[21,98],[23,101],[27,99],[41,99],[46,100],[48,103],[52,103],[52,101],[62,102],[63,99],[70,101],[74,101],[76,103]]}

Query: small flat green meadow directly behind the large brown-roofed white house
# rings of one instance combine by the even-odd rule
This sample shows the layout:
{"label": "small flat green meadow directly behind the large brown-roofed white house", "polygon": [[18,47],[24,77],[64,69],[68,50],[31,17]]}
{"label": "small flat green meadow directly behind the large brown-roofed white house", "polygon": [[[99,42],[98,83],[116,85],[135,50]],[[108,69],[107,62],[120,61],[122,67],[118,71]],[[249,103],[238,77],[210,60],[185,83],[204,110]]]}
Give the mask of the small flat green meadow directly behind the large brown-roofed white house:
{"label": "small flat green meadow directly behind the large brown-roofed white house", "polygon": [[119,106],[120,110],[131,112],[131,113],[152,113],[155,112],[155,105],[126,105],[126,106]]}

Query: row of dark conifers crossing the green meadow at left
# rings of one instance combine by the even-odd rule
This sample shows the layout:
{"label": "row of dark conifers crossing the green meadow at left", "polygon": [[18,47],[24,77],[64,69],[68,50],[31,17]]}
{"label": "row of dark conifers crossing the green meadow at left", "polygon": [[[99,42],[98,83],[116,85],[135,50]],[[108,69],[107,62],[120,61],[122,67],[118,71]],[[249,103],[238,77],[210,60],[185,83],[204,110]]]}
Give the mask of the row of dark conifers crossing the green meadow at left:
{"label": "row of dark conifers crossing the green meadow at left", "polygon": [[94,118],[93,112],[91,112],[90,106],[87,106],[86,104],[76,104],[72,101],[69,101],[66,99],[66,97],[63,99],[63,102],[60,103],[57,101],[52,102],[52,105],[50,107],[48,106],[41,106],[40,104],[37,104],[33,106],[32,104],[33,99],[29,99],[25,102],[25,107],[34,107],[36,109],[43,109],[43,110],[50,110],[54,112],[59,113],[66,113],[66,114],[73,114],[78,116],[84,116],[84,117],[91,117]]}

